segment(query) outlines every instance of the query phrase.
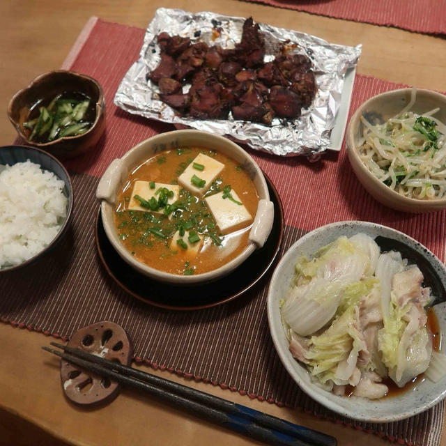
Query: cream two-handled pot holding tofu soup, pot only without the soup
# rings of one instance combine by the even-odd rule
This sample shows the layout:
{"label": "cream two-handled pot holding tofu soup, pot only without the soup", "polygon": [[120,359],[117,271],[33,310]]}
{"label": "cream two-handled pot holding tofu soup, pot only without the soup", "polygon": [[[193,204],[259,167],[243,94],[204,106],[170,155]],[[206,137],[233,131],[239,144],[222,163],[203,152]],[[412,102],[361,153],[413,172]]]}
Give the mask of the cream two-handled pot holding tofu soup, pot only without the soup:
{"label": "cream two-handled pot holding tofu soup, pot only without the soup", "polygon": [[[247,246],[238,256],[224,266],[220,266],[220,268],[209,272],[197,275],[176,275],[151,268],[134,259],[134,256],[125,249],[121,240],[119,240],[114,225],[114,213],[118,192],[137,162],[148,159],[162,151],[187,146],[210,148],[243,164],[245,171],[252,179],[256,192],[259,195],[259,204],[252,227],[249,230]],[[122,158],[113,160],[109,165],[105,174],[100,179],[98,189],[96,190],[96,197],[101,202],[100,210],[107,238],[122,259],[132,266],[136,272],[159,280],[160,282],[171,284],[188,285],[211,282],[229,274],[232,270],[238,268],[256,249],[263,247],[263,244],[270,234],[274,220],[274,205],[270,201],[266,180],[261,169],[252,157],[243,148],[229,139],[199,130],[174,130],[173,132],[157,134],[155,137],[146,139],[146,141],[142,141],[137,146],[134,146]]]}

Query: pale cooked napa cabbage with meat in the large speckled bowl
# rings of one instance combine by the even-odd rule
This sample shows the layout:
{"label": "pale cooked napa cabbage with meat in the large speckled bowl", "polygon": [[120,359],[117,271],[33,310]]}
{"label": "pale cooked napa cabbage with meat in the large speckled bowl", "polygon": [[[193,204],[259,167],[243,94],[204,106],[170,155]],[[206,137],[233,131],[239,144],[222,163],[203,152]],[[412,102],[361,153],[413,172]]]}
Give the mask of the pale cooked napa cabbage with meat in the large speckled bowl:
{"label": "pale cooked napa cabbage with meat in the large speckled bowl", "polygon": [[399,252],[381,254],[364,233],[300,257],[281,302],[291,353],[337,394],[360,384],[353,394],[383,397],[387,376],[402,387],[432,356],[424,310],[430,290],[422,280]]}

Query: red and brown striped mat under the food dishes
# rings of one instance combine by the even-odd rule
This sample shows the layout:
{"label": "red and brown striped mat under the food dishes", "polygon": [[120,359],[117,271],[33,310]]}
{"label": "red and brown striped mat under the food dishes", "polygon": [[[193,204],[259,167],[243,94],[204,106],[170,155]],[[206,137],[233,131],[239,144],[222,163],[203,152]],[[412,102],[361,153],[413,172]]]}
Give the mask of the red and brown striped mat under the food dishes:
{"label": "red and brown striped mat under the food dishes", "polygon": [[[0,320],[63,339],[84,325],[114,321],[133,339],[136,359],[151,367],[194,376],[262,401],[302,408],[399,443],[437,445],[443,403],[403,422],[369,424],[339,417],[307,397],[282,367],[270,339],[268,277],[238,300],[183,313],[144,305],[108,277],[98,261],[93,237],[98,178],[111,160],[139,141],[172,130],[171,125],[132,116],[113,104],[119,82],[137,59],[143,35],[142,29],[93,20],[77,50],[70,54],[72,70],[91,75],[102,84],[107,130],[95,151],[66,162],[72,173],[75,209],[72,228],[63,243],[39,263],[2,275]],[[398,87],[357,76],[351,109],[371,95]],[[445,259],[445,212],[408,215],[383,208],[357,182],[345,148],[314,164],[302,158],[249,153],[282,197],[286,223],[283,252],[303,233],[322,224],[367,220],[408,233]],[[44,273],[47,271],[52,275]]]}

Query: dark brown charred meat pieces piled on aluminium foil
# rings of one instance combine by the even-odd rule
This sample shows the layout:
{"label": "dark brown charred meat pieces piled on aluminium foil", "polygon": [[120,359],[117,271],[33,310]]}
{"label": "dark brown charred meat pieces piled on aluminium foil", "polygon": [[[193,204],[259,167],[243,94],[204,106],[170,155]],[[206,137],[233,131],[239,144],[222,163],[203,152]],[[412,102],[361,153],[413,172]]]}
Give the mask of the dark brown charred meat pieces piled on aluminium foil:
{"label": "dark brown charred meat pieces piled on aluminium foil", "polygon": [[[298,118],[309,107],[317,85],[312,62],[304,54],[278,54],[264,63],[265,41],[250,17],[233,49],[190,38],[157,36],[160,64],[148,73],[160,100],[180,114],[200,119],[234,119],[270,125],[272,118]],[[190,84],[183,94],[183,85]]]}

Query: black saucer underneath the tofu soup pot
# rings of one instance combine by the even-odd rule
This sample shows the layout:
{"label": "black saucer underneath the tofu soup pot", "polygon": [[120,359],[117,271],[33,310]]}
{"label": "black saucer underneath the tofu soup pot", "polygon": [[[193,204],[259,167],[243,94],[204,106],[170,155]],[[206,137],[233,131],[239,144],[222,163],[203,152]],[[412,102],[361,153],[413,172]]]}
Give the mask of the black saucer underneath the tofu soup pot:
{"label": "black saucer underneath the tofu soup pot", "polygon": [[231,274],[222,279],[192,286],[175,286],[157,282],[136,272],[125,263],[109,242],[100,210],[96,217],[95,240],[102,264],[116,284],[122,289],[156,307],[176,310],[192,310],[214,307],[251,289],[266,274],[279,253],[284,233],[284,210],[279,194],[265,175],[270,200],[274,203],[274,223],[268,240]]}

